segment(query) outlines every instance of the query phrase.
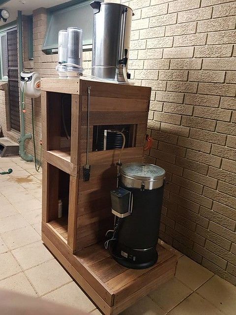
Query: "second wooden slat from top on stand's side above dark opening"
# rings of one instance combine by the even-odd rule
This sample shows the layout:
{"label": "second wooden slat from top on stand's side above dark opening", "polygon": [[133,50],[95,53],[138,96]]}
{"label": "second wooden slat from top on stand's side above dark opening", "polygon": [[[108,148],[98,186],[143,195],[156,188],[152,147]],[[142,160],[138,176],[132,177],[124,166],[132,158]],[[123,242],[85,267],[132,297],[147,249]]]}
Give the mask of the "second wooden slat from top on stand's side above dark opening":
{"label": "second wooden slat from top on stand's side above dark opening", "polygon": [[[82,111],[87,111],[88,97],[82,96]],[[117,97],[90,97],[91,112],[147,112],[148,99],[132,99]]]}

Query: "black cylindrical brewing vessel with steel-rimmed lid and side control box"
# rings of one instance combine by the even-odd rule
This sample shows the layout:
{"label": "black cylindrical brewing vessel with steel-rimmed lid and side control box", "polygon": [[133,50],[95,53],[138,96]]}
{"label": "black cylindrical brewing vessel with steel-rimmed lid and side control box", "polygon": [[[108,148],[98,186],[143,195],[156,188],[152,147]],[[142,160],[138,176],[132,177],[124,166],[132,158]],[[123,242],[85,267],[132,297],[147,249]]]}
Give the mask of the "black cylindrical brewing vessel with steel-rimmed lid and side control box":
{"label": "black cylindrical brewing vessel with steel-rimmed lid and side control box", "polygon": [[164,179],[159,166],[128,163],[121,166],[119,187],[111,190],[118,220],[110,251],[127,268],[144,269],[157,261]]}

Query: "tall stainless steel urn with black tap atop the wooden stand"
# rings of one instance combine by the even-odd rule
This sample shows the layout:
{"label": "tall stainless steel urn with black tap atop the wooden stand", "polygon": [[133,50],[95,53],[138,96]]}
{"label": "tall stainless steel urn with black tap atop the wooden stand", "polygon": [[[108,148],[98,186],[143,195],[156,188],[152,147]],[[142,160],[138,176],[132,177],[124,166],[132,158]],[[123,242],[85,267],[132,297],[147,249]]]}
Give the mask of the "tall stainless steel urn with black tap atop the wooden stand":
{"label": "tall stainless steel urn with black tap atop the wooden stand", "polygon": [[[129,56],[133,11],[119,3],[94,1],[92,75],[124,82],[122,65],[124,49]],[[127,67],[126,67],[127,69]]]}

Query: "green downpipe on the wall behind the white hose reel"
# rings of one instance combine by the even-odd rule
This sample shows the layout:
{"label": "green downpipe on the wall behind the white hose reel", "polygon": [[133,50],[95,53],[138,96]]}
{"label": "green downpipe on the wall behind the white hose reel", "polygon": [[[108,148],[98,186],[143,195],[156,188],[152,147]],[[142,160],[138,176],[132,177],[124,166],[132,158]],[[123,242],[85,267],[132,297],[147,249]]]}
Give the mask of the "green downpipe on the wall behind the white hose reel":
{"label": "green downpipe on the wall behind the white hose reel", "polygon": [[[23,71],[23,43],[22,43],[22,11],[18,11],[17,16],[18,24],[18,38],[19,38],[19,70]],[[25,134],[25,113],[23,112],[23,94],[21,93],[21,136],[18,139],[19,143],[19,156],[27,162],[32,162],[33,156],[26,153],[25,142],[32,139],[31,133]]]}

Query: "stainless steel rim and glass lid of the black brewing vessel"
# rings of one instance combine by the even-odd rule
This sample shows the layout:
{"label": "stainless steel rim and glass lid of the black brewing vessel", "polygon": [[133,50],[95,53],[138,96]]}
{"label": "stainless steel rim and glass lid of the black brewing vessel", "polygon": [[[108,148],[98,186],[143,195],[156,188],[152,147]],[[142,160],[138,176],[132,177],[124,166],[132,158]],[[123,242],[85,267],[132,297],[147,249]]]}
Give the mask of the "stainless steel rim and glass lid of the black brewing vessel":
{"label": "stainless steel rim and glass lid of the black brewing vessel", "polygon": [[163,186],[165,170],[157,165],[127,163],[121,166],[121,182],[130,188],[157,189]]}

